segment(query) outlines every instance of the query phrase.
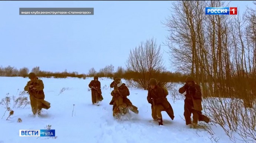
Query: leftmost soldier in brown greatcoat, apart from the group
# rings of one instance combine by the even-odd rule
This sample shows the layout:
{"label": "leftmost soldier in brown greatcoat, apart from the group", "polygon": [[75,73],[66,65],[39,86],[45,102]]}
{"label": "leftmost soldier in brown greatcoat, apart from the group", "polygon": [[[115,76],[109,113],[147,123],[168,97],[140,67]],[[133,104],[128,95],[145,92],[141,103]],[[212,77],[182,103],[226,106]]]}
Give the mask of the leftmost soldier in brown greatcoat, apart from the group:
{"label": "leftmost soldier in brown greatcoat, apart from the group", "polygon": [[42,108],[49,109],[50,103],[45,101],[45,94],[43,92],[44,84],[42,80],[36,77],[35,73],[29,73],[30,81],[24,87],[24,91],[28,91],[30,98],[30,105],[33,114],[41,114]]}

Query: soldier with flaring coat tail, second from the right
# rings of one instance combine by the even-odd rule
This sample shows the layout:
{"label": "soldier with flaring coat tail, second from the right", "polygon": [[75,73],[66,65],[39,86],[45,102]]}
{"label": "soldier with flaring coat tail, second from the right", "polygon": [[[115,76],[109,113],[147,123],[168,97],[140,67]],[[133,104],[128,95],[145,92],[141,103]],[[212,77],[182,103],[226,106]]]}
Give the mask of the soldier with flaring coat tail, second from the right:
{"label": "soldier with flaring coat tail, second from the right", "polygon": [[164,89],[161,88],[155,79],[150,79],[150,87],[148,88],[148,103],[151,104],[152,118],[158,121],[159,125],[163,125],[163,118],[161,111],[166,111],[170,118],[174,119],[174,112],[171,104],[164,96]]}

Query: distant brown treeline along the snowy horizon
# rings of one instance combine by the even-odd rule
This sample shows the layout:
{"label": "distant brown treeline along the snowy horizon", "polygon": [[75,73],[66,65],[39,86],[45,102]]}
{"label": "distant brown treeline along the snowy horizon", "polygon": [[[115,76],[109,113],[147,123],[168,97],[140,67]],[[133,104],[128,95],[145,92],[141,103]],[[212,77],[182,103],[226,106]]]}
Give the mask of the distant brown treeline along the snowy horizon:
{"label": "distant brown treeline along the snowy horizon", "polygon": [[[128,71],[125,70],[123,67],[118,67],[116,71],[114,71],[114,66],[106,66],[103,69],[100,69],[99,71],[95,71],[94,68],[89,69],[89,72],[87,74],[79,74],[76,71],[68,72],[51,72],[51,71],[42,71],[40,68],[34,67],[31,71],[27,67],[23,67],[21,69],[17,69],[16,67],[7,66],[7,67],[0,67],[0,76],[4,77],[28,77],[28,74],[30,72],[36,73],[37,77],[46,77],[46,78],[66,78],[66,77],[77,77],[77,78],[83,78],[86,77],[108,77],[112,78],[114,76],[118,76],[123,79],[127,80],[136,80],[138,79],[138,76],[141,74],[136,73],[134,71]],[[170,72],[170,71],[162,71],[161,73],[154,73],[152,77],[158,79],[159,81],[165,81],[165,82],[184,82],[186,79],[186,75],[179,73],[179,72]]]}

